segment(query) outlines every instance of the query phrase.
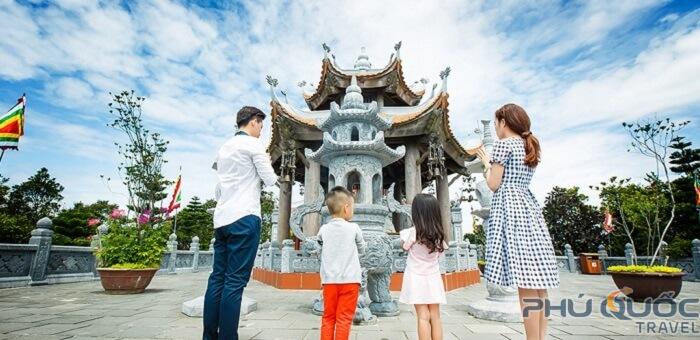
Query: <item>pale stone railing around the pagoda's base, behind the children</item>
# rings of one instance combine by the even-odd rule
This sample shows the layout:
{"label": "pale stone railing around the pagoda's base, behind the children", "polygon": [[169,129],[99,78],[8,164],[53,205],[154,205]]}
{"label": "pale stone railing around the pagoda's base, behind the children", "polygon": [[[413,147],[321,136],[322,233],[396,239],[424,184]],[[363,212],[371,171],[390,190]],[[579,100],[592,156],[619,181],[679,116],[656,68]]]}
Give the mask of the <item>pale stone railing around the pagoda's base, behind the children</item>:
{"label": "pale stone railing around the pagoda's base, behind the children", "polygon": [[[397,236],[394,236],[398,238]],[[406,268],[407,253],[396,245],[393,249],[393,272],[403,272]],[[477,268],[477,246],[466,242],[452,241],[440,257],[440,270],[452,273]],[[306,250],[295,250],[292,240],[282,241],[282,249],[277,242],[265,242],[258,247],[255,267],[281,273],[317,273],[321,260],[317,254]]]}

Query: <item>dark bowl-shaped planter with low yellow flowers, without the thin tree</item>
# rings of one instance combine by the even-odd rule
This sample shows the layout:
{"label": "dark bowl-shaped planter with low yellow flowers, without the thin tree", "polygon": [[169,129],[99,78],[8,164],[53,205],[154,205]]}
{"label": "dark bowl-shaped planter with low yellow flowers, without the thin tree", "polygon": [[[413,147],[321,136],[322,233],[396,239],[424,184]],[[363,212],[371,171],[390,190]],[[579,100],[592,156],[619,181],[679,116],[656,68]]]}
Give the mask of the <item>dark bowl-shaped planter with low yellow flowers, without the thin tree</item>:
{"label": "dark bowl-shaped planter with low yellow flowers, without the thin tree", "polygon": [[678,296],[685,273],[668,266],[610,266],[608,273],[615,285],[635,301]]}

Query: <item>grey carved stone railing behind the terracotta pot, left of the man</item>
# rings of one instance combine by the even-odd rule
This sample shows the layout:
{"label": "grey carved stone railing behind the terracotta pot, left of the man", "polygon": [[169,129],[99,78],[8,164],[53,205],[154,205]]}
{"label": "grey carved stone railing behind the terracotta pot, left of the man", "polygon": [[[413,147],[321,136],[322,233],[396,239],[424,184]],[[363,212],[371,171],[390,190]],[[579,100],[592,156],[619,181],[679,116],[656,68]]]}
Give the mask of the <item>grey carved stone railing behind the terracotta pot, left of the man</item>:
{"label": "grey carved stone railing behind the terracotta pot, left of the man", "polygon": [[[51,244],[52,223],[37,222],[29,244],[0,244],[0,288],[79,282],[99,279],[92,247]],[[170,235],[158,274],[209,270],[214,260],[214,240],[208,251],[199,249],[199,238],[192,238],[189,250],[177,250],[177,238]]]}

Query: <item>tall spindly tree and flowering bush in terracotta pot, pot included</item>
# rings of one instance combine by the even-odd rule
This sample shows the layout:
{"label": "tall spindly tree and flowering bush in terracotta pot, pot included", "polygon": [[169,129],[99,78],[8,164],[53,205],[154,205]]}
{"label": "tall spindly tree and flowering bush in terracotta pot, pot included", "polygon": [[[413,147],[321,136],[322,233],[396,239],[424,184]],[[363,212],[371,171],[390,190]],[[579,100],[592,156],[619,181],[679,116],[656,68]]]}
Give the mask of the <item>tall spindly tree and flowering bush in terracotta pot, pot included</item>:
{"label": "tall spindly tree and flowering bush in terracotta pot, pot included", "polygon": [[170,211],[160,208],[170,184],[162,174],[168,142],[144,126],[144,97],[133,90],[110,95],[109,113],[114,120],[108,126],[126,139],[115,143],[122,158],[117,169],[128,192],[127,207],[136,216],[117,210],[106,218],[96,242],[98,271],[107,293],[141,293],[160,268],[170,230],[166,221]]}

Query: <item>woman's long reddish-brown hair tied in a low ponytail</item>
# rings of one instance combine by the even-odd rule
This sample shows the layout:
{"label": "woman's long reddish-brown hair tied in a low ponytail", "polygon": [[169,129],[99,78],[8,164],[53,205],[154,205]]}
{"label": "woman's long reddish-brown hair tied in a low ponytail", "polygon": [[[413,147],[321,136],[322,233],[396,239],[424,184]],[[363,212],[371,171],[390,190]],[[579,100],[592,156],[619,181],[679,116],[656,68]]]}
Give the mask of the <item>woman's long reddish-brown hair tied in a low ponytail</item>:
{"label": "woman's long reddish-brown hair tied in a low ponytail", "polygon": [[496,120],[505,120],[513,132],[525,141],[525,165],[534,168],[540,163],[540,141],[530,132],[530,117],[516,104],[506,104],[496,110]]}

